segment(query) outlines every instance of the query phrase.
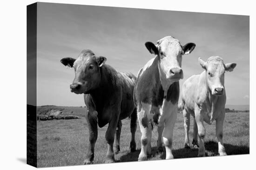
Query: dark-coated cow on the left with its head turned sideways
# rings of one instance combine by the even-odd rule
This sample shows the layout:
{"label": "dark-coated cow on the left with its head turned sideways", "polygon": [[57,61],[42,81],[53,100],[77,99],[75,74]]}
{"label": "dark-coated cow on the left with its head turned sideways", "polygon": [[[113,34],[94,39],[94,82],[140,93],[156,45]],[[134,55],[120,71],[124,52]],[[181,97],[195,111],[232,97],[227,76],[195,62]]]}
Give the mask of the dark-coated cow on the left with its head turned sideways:
{"label": "dark-coated cow on the left with its head turned sideways", "polygon": [[89,146],[85,164],[94,160],[94,146],[98,136],[98,126],[108,124],[106,140],[108,151],[105,163],[115,161],[115,152],[120,151],[119,141],[121,120],[131,117],[131,151],[136,150],[135,131],[137,111],[133,99],[136,77],[131,73],[121,73],[105,64],[105,57],[97,57],[91,50],[83,50],[77,59],[62,58],[61,63],[73,67],[75,78],[70,85],[71,92],[84,94],[88,108],[86,115],[89,130]]}

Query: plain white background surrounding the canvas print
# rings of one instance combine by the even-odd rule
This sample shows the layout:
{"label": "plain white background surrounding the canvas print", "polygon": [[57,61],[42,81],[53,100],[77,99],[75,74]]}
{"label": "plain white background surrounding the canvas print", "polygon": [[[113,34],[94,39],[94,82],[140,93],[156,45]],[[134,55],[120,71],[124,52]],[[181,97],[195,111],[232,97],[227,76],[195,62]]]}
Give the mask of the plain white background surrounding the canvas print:
{"label": "plain white background surrounding the canvas print", "polygon": [[[24,163],[26,158],[26,6],[34,0],[1,1],[1,121],[0,121],[0,169],[32,169]],[[253,0],[44,0],[44,2],[83,5],[119,6],[174,11],[225,13],[250,15],[250,155],[228,157],[186,158],[174,160],[147,161],[141,163],[97,164],[47,168],[62,169],[244,169],[255,162],[255,120],[253,84],[255,84],[256,15]],[[23,160],[23,161],[22,161]],[[254,160],[254,162],[253,162]]]}

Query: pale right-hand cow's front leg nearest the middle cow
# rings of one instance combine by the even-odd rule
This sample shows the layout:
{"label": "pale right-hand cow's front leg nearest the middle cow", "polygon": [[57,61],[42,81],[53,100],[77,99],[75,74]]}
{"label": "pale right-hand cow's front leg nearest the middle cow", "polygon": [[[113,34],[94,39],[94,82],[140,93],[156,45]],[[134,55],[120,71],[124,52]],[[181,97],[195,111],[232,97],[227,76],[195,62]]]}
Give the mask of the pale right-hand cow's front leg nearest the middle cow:
{"label": "pale right-hand cow's front leg nearest the middle cow", "polygon": [[195,113],[195,121],[197,124],[198,136],[199,136],[198,157],[205,157],[205,148],[204,148],[205,128],[203,125],[203,119],[202,119],[200,112],[201,111]]}

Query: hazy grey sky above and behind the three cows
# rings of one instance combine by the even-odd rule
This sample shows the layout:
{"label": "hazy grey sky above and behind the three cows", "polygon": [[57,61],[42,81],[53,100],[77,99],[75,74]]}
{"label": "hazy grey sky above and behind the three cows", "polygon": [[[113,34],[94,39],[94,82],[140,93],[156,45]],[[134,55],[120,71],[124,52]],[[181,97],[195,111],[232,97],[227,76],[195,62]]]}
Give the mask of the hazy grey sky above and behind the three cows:
{"label": "hazy grey sky above and behind the three cows", "polygon": [[181,87],[203,71],[198,57],[220,56],[237,63],[225,74],[226,104],[249,105],[249,16],[38,3],[37,19],[37,106],[85,106],[83,94],[70,92],[74,69],[61,58],[90,49],[118,71],[137,75],[154,57],[145,42],[165,36],[196,44],[183,56]]}

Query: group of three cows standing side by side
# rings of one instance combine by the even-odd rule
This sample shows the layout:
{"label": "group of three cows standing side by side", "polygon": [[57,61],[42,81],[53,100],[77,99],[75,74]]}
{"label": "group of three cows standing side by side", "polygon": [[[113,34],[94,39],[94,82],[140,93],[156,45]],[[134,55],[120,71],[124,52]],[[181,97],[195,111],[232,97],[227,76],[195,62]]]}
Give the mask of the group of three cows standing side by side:
{"label": "group of three cows standing side by side", "polygon": [[[155,57],[138,72],[122,73],[105,64],[106,57],[96,56],[91,50],[82,50],[77,59],[62,58],[61,63],[74,68],[75,78],[70,85],[71,92],[84,94],[88,112],[86,120],[89,130],[88,152],[85,164],[94,161],[94,146],[98,126],[108,124],[105,135],[108,151],[106,163],[115,162],[114,153],[120,151],[121,120],[130,117],[130,151],[136,151],[135,132],[137,119],[141,129],[141,152],[138,161],[147,160],[151,154],[151,135],[157,126],[157,151],[165,146],[166,159],[172,154],[173,129],[178,113],[180,94],[179,80],[183,78],[182,55],[191,53],[194,43],[181,45],[180,41],[167,36],[156,42],[145,43]],[[198,146],[198,156],[205,156],[203,122],[211,124],[216,120],[216,136],[220,156],[227,155],[223,146],[223,121],[225,117],[226,94],[224,73],[232,71],[236,63],[224,64],[221,57],[212,56],[204,62],[199,75],[189,77],[182,86],[181,103],[185,129],[185,148],[189,144],[190,114],[194,117],[193,146]]]}

